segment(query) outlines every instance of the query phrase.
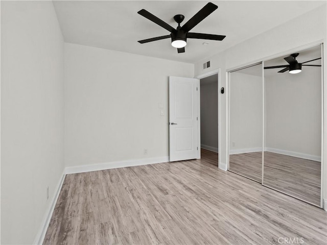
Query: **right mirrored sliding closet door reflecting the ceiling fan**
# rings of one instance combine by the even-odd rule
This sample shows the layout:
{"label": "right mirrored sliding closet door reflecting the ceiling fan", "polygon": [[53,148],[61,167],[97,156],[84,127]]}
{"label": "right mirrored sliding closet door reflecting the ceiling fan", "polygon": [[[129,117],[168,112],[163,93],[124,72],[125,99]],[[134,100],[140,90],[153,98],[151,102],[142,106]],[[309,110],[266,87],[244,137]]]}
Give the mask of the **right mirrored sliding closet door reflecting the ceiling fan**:
{"label": "right mirrored sliding closet door reflecting the ceiling fan", "polygon": [[[302,63],[301,71],[291,74],[289,63]],[[280,65],[288,65],[286,71],[271,67]],[[320,206],[321,45],[264,66],[263,184]]]}

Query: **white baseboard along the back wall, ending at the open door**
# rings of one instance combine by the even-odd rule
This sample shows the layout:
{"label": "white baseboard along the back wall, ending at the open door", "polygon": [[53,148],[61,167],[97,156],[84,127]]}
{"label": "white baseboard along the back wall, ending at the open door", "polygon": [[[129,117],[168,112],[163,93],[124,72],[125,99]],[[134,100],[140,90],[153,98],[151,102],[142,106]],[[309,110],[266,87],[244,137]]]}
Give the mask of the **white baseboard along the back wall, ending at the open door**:
{"label": "white baseboard along the back wall, ending at the open door", "polygon": [[98,171],[98,170],[119,168],[119,167],[148,165],[148,164],[161,163],[161,162],[169,162],[169,157],[166,156],[166,157],[156,157],[156,158],[144,158],[144,159],[137,159],[137,160],[105,162],[105,163],[96,163],[96,164],[89,164],[89,165],[80,165],[74,167],[66,167],[65,174],[66,175],[77,174],[77,173],[85,173],[90,171]]}

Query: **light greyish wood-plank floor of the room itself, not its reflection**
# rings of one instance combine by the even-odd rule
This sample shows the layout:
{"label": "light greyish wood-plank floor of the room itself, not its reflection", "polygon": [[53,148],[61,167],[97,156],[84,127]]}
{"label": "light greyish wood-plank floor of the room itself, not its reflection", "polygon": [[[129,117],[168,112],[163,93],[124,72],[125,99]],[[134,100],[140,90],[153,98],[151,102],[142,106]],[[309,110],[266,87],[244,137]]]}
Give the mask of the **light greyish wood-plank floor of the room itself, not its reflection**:
{"label": "light greyish wood-plank floor of the room itself, not its reflection", "polygon": [[323,210],[220,170],[206,154],[66,175],[44,244],[326,244]]}

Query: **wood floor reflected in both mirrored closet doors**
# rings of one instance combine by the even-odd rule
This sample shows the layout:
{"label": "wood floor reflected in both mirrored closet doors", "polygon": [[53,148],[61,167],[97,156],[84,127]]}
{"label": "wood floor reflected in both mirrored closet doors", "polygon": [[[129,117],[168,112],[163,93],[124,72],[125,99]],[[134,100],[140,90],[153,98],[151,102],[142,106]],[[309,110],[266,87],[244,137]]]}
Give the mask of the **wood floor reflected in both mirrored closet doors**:
{"label": "wood floor reflected in both mirrored closet doors", "polygon": [[[262,153],[229,156],[229,169],[261,182]],[[321,163],[265,152],[264,184],[320,206]]]}

